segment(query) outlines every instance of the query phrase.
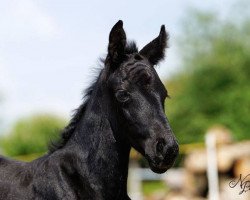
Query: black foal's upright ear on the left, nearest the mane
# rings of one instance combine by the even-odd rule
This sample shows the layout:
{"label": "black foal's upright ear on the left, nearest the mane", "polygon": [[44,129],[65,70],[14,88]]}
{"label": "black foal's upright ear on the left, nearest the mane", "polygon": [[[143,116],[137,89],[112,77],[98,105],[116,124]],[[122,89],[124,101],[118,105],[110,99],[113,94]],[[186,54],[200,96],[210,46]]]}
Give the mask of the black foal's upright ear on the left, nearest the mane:
{"label": "black foal's upright ear on the left, nearest the mane", "polygon": [[111,63],[119,63],[124,56],[126,34],[123,30],[123,22],[119,20],[109,34],[108,59]]}

